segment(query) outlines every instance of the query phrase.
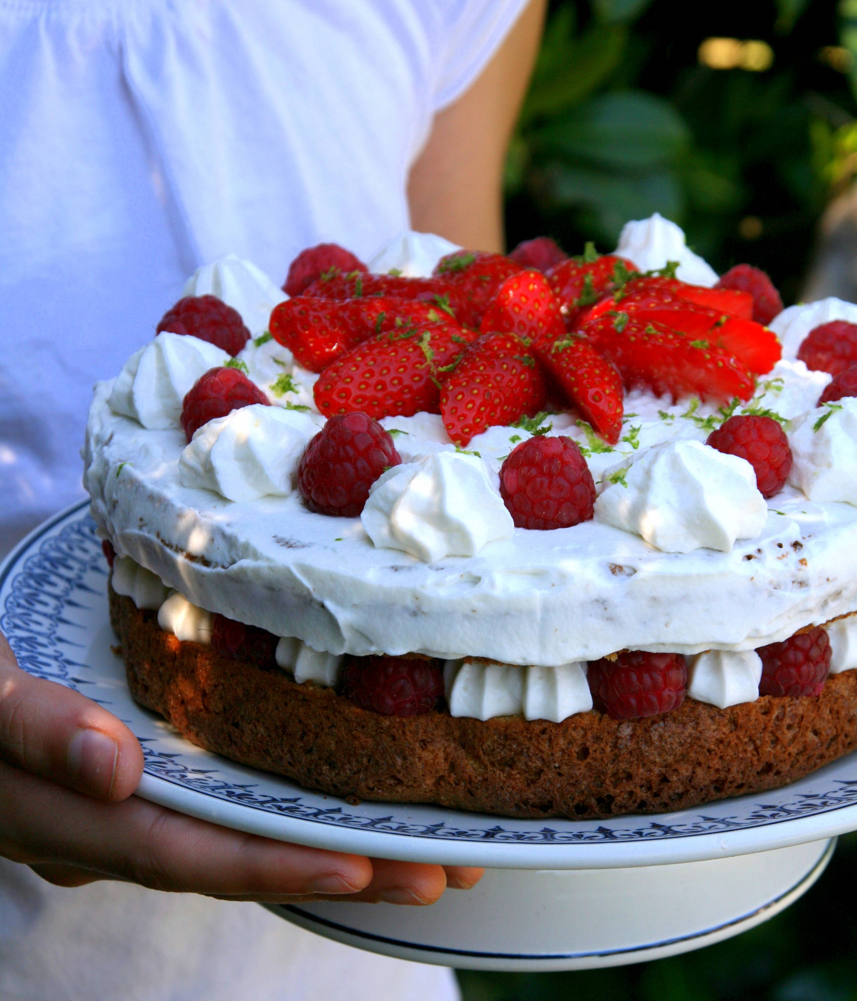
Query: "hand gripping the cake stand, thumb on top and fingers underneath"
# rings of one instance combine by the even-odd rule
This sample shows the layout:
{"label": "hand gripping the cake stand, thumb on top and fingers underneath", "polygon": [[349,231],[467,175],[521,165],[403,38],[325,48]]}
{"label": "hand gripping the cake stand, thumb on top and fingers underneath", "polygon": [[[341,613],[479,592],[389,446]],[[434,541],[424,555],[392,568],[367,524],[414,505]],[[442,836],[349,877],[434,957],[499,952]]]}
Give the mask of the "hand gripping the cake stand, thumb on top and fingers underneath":
{"label": "hand gripping the cake stand, thumb on top and fingers underneath", "polygon": [[185,817],[131,794],[134,735],[106,710],[17,666],[0,635],[0,855],[59,886],[99,879],[222,900],[431,904],[481,869],[366,859]]}

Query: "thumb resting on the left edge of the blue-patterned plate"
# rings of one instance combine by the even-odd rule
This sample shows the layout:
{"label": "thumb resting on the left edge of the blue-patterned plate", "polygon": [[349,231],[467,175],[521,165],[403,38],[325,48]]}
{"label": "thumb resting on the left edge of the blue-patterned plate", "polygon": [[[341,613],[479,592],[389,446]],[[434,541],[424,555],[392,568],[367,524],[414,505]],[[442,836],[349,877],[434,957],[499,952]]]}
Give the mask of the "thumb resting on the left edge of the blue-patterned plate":
{"label": "thumb resting on the left edge of the blue-patterned plate", "polygon": [[22,671],[0,634],[0,759],[99,800],[124,800],[143,772],[130,730],[107,710]]}

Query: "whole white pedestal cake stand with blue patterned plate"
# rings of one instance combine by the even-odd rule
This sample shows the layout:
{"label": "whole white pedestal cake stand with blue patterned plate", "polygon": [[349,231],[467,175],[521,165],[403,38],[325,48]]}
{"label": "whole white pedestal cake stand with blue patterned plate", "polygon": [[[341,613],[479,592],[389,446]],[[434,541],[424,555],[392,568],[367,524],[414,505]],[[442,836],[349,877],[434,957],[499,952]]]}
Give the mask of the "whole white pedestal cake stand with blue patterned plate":
{"label": "whole white pedestal cake stand with blue patterned plate", "polygon": [[308,792],[185,741],[137,706],[111,650],[106,568],[78,505],[0,568],[0,631],[21,667],[96,699],[140,741],[137,795],[225,827],[379,858],[486,866],[425,908],[271,906],[319,935],[489,970],[585,969],[700,948],[772,917],[857,829],[857,752],[785,789],[657,816],[512,820]]}

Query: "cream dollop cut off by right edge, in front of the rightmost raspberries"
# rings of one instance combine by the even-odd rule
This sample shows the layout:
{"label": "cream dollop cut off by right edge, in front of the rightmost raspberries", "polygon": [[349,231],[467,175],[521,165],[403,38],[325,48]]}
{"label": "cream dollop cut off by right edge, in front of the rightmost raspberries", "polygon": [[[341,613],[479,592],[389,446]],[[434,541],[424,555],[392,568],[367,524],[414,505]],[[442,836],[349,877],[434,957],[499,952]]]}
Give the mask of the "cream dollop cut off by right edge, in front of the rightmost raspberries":
{"label": "cream dollop cut off by right edge, in front of the rightmost raspberries", "polygon": [[789,482],[810,500],[857,506],[857,397],[817,406],[795,423]]}

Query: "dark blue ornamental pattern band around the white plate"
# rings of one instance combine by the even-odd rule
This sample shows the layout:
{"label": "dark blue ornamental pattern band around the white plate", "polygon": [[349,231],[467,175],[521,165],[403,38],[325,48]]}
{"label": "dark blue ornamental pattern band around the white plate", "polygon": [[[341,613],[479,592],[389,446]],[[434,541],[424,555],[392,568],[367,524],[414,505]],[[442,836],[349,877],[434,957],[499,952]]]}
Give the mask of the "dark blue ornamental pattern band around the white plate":
{"label": "dark blue ornamental pattern band around the white plate", "polygon": [[[81,511],[83,507],[62,512],[46,522],[18,546],[0,569],[0,593],[8,589],[0,617],[0,631],[9,640],[18,663],[25,671],[88,695],[87,687],[93,684],[93,680],[87,679],[86,675],[92,669],[80,659],[87,647],[87,638],[81,635],[80,642],[75,639],[76,631],[83,627],[74,622],[74,615],[76,610],[85,612],[91,609],[96,601],[103,602],[106,610],[106,596],[100,584],[106,572],[95,524],[85,511]],[[78,517],[75,518],[75,515]],[[57,529],[63,521],[67,524]],[[87,583],[87,578],[92,575],[96,575],[100,590]],[[312,796],[311,793],[302,795],[296,788],[294,796],[265,794],[258,790],[257,783],[235,783],[218,778],[216,768],[189,767],[180,755],[151,746],[155,741],[156,738],[140,738],[146,774],[188,791],[293,820],[445,841],[534,845],[663,841],[766,827],[857,804],[855,778],[834,779],[832,788],[819,793],[804,793],[795,788],[775,790],[767,794],[775,797],[773,802],[752,804],[733,801],[730,806],[746,806],[746,812],[742,810],[732,816],[698,814],[692,820],[677,818],[671,824],[663,823],[669,815],[660,815],[660,819],[648,820],[643,826],[633,829],[622,826],[623,821],[631,818],[617,818],[617,827],[609,826],[607,821],[595,824],[557,821],[556,826],[515,829],[509,820],[499,823],[495,818],[490,819],[490,827],[457,827],[455,824],[462,823],[468,815],[455,810],[445,810],[446,820],[443,822],[421,824],[398,820],[393,814],[385,817],[360,816],[349,812],[342,801],[334,798],[325,798],[325,801],[332,800],[338,804],[336,806],[316,806],[306,802],[305,797]],[[217,761],[214,756],[210,760],[212,764]],[[823,774],[819,773],[819,776]],[[717,804],[712,804],[711,809],[716,811]],[[477,824],[488,820],[482,815],[474,815],[475,820],[477,817]]]}

